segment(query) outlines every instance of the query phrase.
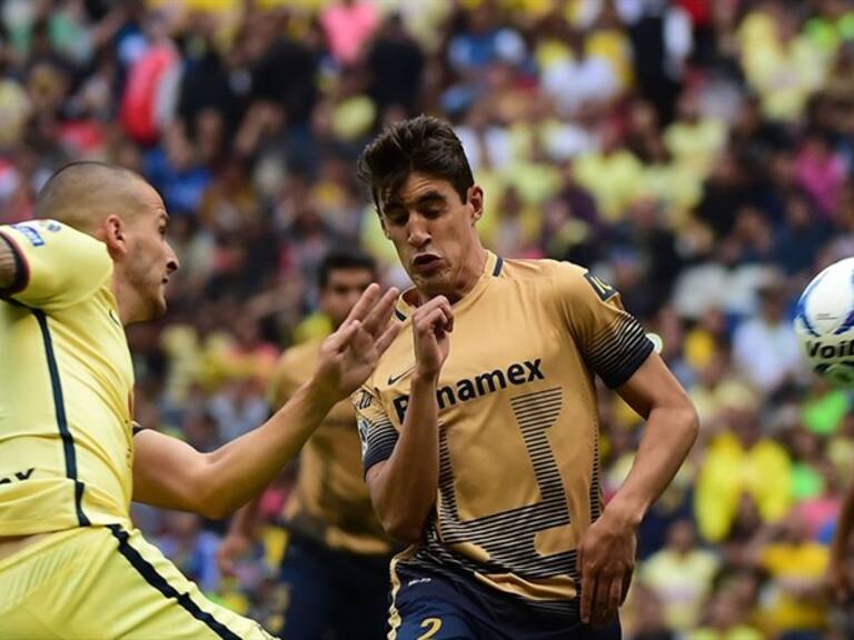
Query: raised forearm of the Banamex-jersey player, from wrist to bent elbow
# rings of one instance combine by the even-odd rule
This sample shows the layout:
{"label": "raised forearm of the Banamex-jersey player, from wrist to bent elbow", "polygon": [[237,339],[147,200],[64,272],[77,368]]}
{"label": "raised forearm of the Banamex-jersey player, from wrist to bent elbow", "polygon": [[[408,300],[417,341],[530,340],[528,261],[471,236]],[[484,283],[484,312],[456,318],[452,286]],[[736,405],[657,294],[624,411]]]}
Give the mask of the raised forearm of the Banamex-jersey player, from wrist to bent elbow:
{"label": "raised forearm of the Banamex-jersey player, from wrist to bent elbow", "polygon": [[386,531],[405,542],[417,542],[439,484],[435,379],[413,380],[400,438],[371,484],[374,508]]}

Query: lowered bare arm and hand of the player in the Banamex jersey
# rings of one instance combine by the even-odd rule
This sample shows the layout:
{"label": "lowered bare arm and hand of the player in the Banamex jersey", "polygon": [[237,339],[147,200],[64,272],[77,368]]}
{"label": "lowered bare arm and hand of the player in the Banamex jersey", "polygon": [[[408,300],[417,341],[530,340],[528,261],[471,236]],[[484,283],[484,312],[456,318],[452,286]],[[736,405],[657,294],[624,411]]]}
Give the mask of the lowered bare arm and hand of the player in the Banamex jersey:
{"label": "lowered bare arm and hand of the player in the Banamex jersey", "polygon": [[578,546],[582,620],[593,624],[616,617],[632,580],[640,520],[673,480],[699,431],[694,404],[657,353],[651,353],[617,392],[646,419],[646,428],[623,487]]}

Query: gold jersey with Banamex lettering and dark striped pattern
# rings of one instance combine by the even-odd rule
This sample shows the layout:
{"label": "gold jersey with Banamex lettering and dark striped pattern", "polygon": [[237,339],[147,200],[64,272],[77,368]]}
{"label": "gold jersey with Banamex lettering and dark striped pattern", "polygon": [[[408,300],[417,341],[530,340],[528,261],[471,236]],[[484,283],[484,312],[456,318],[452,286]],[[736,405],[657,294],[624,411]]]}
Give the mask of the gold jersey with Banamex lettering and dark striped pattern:
{"label": "gold jersey with Banamex lettering and dark striped pattern", "polygon": [[[364,466],[388,459],[415,366],[415,291],[399,336],[352,396]],[[454,309],[436,390],[439,487],[419,543],[393,580],[451,580],[478,600],[512,600],[578,620],[578,541],[602,510],[594,374],[625,382],[653,351],[618,293],[585,269],[488,253]]]}

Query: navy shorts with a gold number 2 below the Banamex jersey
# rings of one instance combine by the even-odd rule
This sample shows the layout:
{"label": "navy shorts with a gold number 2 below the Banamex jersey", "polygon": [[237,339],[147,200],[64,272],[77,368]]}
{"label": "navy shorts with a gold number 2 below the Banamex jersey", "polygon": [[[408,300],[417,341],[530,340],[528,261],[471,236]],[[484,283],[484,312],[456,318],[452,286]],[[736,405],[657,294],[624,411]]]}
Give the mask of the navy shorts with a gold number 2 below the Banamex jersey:
{"label": "navy shorts with a gold number 2 below the Banamex jersey", "polygon": [[398,568],[390,623],[396,640],[619,640],[619,621],[594,629],[546,620],[500,593],[471,597],[454,581]]}

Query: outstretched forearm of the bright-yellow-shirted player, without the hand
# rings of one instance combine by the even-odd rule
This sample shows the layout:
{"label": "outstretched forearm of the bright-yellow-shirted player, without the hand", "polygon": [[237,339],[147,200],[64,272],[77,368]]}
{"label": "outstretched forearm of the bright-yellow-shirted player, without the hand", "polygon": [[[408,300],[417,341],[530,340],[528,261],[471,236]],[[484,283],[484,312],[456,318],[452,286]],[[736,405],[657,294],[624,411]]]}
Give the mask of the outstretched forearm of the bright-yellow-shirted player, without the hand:
{"label": "outstretched forearm of the bright-yellow-shirted player, without the hand", "polygon": [[208,510],[231,513],[258,496],[338,400],[309,381],[267,422],[208,453],[205,479]]}

